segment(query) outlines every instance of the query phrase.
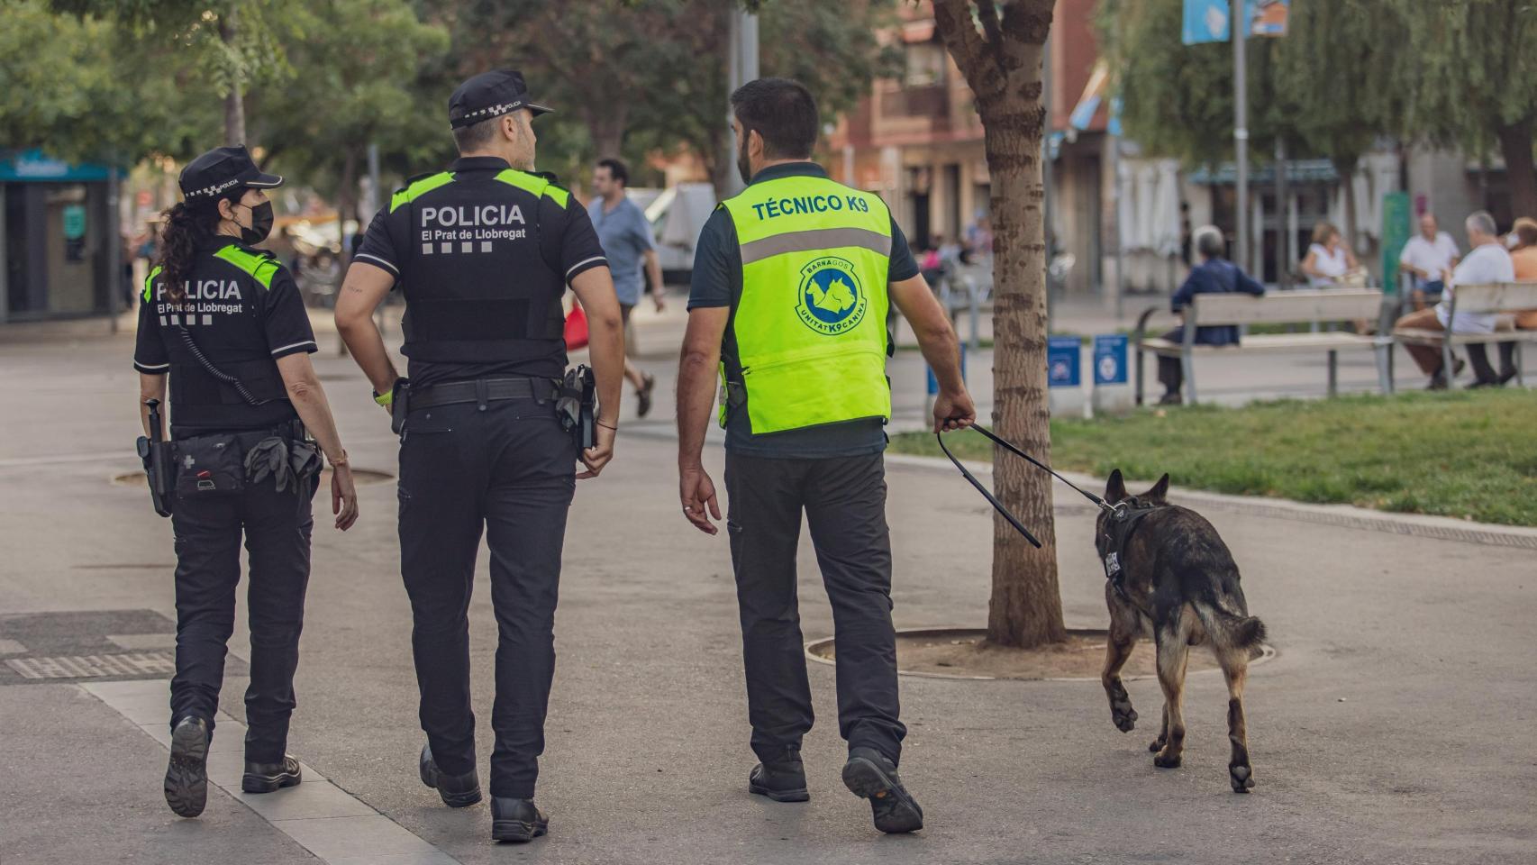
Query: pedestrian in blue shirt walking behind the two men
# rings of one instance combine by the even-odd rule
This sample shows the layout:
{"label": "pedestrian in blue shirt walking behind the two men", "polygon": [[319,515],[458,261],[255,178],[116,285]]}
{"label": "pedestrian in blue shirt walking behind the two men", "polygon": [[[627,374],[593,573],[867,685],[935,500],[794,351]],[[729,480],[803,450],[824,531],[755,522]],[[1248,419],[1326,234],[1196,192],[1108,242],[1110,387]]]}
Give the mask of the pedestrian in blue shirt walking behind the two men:
{"label": "pedestrian in blue shirt walking behind the two men", "polygon": [[[630,201],[624,189],[630,184],[630,171],[619,160],[598,160],[592,172],[592,189],[598,194],[587,204],[587,215],[592,227],[598,230],[598,243],[603,254],[609,257],[609,269],[613,272],[613,292],[619,295],[619,315],[624,324],[630,324],[630,310],[641,303],[641,289],[646,280],[641,278],[641,264],[650,277],[652,301],[656,312],[667,309],[662,300],[662,266],[656,258],[656,247],[652,243],[652,226],[646,221],[646,214]],[[656,378],[641,372],[629,358],[624,360],[624,378],[635,386],[639,398],[636,416],[644,418],[652,410],[652,390]]]}

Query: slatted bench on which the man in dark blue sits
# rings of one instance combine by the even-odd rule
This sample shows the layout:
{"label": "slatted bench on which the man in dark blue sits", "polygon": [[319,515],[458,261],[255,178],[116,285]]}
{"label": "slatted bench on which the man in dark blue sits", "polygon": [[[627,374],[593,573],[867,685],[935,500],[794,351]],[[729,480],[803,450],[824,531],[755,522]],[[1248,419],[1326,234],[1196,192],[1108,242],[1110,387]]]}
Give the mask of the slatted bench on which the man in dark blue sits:
{"label": "slatted bench on which the man in dark blue sits", "polygon": [[1243,336],[1237,346],[1202,346],[1196,343],[1197,327],[1223,324],[1317,324],[1320,321],[1376,321],[1382,312],[1382,292],[1376,290],[1299,290],[1276,292],[1263,297],[1222,293],[1196,295],[1183,310],[1183,341],[1174,343],[1148,336],[1150,320],[1162,307],[1151,307],[1137,320],[1133,335],[1137,355],[1136,399],[1142,404],[1142,355],[1179,358],[1185,367],[1185,401],[1196,404],[1196,356],[1279,352],[1328,352],[1330,396],[1339,390],[1339,353],[1343,350],[1377,350],[1379,384],[1383,393],[1391,389],[1386,381],[1386,352],[1391,346],[1359,333],[1339,330],[1314,330],[1311,333],[1263,333]]}

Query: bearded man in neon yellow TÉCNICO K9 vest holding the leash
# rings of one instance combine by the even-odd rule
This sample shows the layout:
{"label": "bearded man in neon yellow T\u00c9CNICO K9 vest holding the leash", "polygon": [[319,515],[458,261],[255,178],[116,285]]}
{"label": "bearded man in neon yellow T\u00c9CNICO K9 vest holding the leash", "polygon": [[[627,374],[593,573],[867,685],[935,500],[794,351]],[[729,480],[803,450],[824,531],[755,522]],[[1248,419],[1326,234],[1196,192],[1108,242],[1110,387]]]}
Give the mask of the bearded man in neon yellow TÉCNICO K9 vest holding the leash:
{"label": "bearded man in neon yellow T\u00c9CNICO K9 vest holding the leash", "polygon": [[805,510],[833,604],[844,784],[870,799],[876,828],[915,831],[924,813],[896,773],[907,730],[898,721],[881,458],[891,416],[890,303],[939,378],[934,430],[970,426],[976,410],[950,321],[885,203],[808,161],[819,128],[812,94],[762,78],[732,94],[732,109],[738,167],[752,180],[716,209],[696,246],[678,467],[684,516],[715,535],[710,516],[721,513],[701,449],[719,367],[727,530],[752,747],[762,761],[749,790],[776,802],[808,797],[801,737],[812,728],[812,694],[795,593]]}

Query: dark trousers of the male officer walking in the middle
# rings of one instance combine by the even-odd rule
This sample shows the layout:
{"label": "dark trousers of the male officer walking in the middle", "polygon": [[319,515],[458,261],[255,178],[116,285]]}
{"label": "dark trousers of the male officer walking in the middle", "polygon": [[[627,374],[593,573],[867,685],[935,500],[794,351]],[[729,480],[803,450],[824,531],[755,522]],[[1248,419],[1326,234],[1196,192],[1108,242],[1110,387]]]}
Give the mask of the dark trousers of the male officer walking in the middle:
{"label": "dark trousers of the male officer walking in the middle", "polygon": [[576,444],[535,399],[418,409],[400,447],[400,555],[421,728],[438,768],[475,768],[469,605],[481,530],[496,613],[492,796],[532,799],[555,676],[555,601]]}

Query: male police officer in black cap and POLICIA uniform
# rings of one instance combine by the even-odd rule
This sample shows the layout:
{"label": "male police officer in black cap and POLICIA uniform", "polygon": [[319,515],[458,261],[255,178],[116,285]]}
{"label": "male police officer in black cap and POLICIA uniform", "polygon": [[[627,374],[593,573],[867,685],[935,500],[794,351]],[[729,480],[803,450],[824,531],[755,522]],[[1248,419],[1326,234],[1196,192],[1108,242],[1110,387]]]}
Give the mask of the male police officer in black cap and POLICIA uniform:
{"label": "male police officer in black cap and POLICIA uniform", "polygon": [[[596,446],[579,452],[587,470],[576,478],[596,476],[613,453],[624,364],[619,304],[587,212],[533,174],[530,120],[546,111],[518,72],[464,81],[449,100],[460,158],[412,180],[373,218],[337,303],[337,326],[375,399],[404,421],[400,547],[427,733],[421,780],[450,807],[481,797],[466,610],[486,529],[501,638],[490,761],[498,840],[530,840],[547,827],[533,785],[578,458],[555,399],[567,283],[587,309],[599,398]],[[397,387],[372,320],[397,284],[409,387]]]}

